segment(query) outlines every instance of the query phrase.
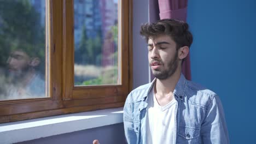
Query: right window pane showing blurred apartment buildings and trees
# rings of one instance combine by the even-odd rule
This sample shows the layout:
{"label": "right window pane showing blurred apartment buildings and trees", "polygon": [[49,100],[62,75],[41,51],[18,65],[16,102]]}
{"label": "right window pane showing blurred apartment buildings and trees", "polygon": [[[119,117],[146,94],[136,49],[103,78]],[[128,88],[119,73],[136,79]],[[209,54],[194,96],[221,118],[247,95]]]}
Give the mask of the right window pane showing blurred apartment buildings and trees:
{"label": "right window pane showing blurred apartment buildings and trees", "polygon": [[74,85],[118,85],[118,1],[74,0]]}

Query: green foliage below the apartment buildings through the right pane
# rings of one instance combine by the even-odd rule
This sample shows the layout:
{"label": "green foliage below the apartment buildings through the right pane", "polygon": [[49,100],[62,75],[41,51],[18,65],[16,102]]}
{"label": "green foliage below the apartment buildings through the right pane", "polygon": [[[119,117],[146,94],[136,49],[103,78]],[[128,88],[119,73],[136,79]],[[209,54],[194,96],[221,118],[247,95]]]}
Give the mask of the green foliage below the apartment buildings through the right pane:
{"label": "green foliage below the apartment buildings through the right pane", "polygon": [[[111,85],[118,82],[118,26],[112,26],[108,32],[109,36],[107,40],[114,43],[114,52],[108,55],[108,59],[114,61],[114,65],[108,65],[103,68],[101,75],[94,77],[90,80],[75,82],[75,85]],[[82,28],[82,37],[78,45],[78,49],[75,50],[75,63],[82,65],[96,65],[102,67],[102,49],[104,41],[102,39],[101,29],[98,29],[96,37],[88,37],[86,26]],[[106,66],[106,65],[104,65]],[[87,77],[89,78],[89,77]]]}

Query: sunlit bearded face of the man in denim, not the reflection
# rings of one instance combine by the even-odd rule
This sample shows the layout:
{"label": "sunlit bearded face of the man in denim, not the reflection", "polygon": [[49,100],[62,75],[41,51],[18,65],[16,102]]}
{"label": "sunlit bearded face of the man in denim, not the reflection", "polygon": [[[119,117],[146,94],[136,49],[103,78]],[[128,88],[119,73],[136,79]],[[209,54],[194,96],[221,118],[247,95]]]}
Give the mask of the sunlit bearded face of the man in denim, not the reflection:
{"label": "sunlit bearded face of the man in denim, not the reflection", "polygon": [[179,64],[176,43],[168,35],[150,38],[148,60],[153,75],[160,80],[167,79],[174,74]]}

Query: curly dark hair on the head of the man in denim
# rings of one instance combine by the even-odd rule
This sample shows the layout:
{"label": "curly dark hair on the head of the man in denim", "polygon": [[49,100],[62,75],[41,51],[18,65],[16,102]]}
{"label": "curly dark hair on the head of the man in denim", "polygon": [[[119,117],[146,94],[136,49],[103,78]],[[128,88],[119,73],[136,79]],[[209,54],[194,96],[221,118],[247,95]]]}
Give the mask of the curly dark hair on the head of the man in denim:
{"label": "curly dark hair on the head of the man in denim", "polygon": [[190,47],[193,42],[193,35],[189,31],[188,23],[174,19],[163,19],[154,23],[146,23],[141,26],[140,33],[147,43],[149,38],[158,35],[170,35],[175,41],[177,49],[183,46]]}

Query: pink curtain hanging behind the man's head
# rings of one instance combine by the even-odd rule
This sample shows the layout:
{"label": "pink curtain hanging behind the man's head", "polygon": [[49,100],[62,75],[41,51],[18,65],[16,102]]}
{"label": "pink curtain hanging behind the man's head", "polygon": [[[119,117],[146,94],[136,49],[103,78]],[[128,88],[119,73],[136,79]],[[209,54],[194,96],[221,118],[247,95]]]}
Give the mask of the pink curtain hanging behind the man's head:
{"label": "pink curtain hanging behind the man's head", "polygon": [[[158,0],[160,19],[177,19],[186,21],[188,0]],[[182,73],[191,80],[190,56],[185,58],[182,65]]]}

